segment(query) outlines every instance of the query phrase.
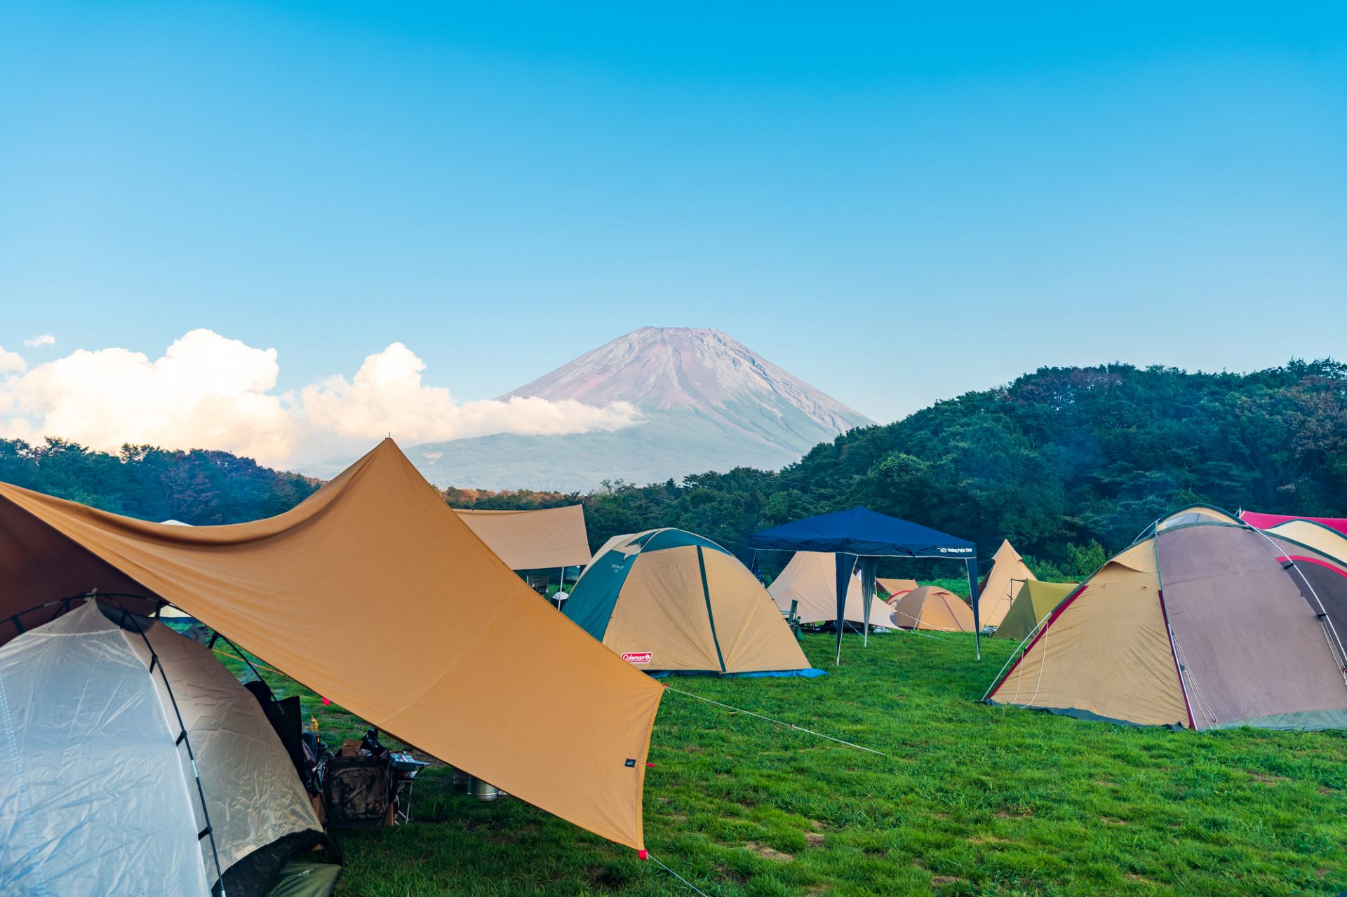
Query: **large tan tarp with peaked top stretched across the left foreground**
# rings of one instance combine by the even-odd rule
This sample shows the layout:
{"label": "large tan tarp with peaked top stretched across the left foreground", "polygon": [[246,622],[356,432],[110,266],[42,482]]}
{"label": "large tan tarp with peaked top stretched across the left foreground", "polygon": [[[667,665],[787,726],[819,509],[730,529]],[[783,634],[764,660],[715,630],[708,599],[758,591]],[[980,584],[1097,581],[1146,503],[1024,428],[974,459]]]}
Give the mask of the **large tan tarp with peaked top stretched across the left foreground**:
{"label": "large tan tarp with peaked top stretched across the left foreground", "polygon": [[643,847],[663,688],[539,601],[392,440],[292,510],[228,527],[0,484],[0,617],[90,589],[170,601],[397,738]]}

